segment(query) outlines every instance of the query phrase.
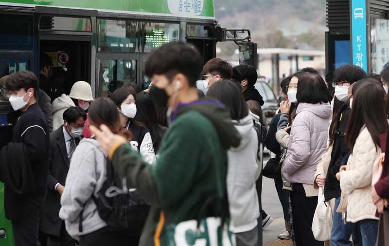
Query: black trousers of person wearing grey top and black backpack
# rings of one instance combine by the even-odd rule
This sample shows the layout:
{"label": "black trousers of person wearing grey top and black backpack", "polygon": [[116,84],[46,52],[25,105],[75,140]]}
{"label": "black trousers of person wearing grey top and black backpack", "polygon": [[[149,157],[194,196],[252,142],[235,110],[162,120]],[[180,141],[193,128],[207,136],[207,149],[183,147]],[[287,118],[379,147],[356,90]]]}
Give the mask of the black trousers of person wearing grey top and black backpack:
{"label": "black trousers of person wearing grey top and black backpack", "polygon": [[140,237],[123,235],[106,227],[80,236],[80,246],[138,246]]}

